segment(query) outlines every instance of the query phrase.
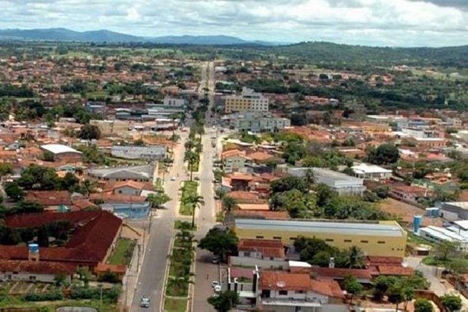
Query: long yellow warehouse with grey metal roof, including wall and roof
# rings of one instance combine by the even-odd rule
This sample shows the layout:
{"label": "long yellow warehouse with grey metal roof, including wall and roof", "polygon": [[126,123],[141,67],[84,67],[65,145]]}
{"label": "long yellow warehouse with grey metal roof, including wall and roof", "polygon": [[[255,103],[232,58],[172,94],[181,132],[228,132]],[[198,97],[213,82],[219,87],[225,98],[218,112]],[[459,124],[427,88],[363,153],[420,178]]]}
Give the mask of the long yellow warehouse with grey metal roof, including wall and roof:
{"label": "long yellow warehouse with grey metal roof, including wall and roof", "polygon": [[292,245],[298,236],[323,239],[340,249],[357,246],[367,256],[404,257],[406,231],[396,221],[267,220],[236,218],[239,238],[278,239]]}

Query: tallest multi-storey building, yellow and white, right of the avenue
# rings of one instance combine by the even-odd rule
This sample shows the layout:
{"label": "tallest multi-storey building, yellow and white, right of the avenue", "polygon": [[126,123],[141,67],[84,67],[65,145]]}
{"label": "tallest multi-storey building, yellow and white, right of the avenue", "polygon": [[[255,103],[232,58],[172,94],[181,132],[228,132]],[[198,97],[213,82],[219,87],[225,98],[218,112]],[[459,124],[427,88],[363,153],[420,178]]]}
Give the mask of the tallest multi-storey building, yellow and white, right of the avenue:
{"label": "tallest multi-storey building, yellow and white, right of the avenue", "polygon": [[225,98],[225,112],[232,113],[245,111],[267,111],[268,98],[261,93],[256,93],[251,89],[242,88],[240,95],[227,96]]}

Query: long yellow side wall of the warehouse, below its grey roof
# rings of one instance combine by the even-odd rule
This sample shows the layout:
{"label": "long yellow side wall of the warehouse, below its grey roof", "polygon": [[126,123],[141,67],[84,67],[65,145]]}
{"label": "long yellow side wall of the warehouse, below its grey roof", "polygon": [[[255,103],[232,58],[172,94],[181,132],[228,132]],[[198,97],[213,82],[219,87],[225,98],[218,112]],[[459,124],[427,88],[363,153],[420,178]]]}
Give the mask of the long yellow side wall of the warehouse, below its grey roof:
{"label": "long yellow side wall of the warehouse, below its grey roof", "polygon": [[[298,236],[315,237],[323,239],[327,244],[338,247],[340,249],[346,249],[356,245],[360,247],[364,254],[369,256],[385,256],[385,257],[404,257],[406,249],[406,234],[402,230],[402,236],[387,236],[387,237],[375,237],[368,235],[344,235],[333,232],[304,232],[304,231],[285,231],[281,233],[267,229],[239,229],[234,227],[239,238],[251,238],[251,239],[278,239],[285,244],[292,245],[294,239]],[[282,235],[282,236],[278,236]],[[367,241],[367,242],[364,242]],[[384,241],[385,243],[379,243]]]}

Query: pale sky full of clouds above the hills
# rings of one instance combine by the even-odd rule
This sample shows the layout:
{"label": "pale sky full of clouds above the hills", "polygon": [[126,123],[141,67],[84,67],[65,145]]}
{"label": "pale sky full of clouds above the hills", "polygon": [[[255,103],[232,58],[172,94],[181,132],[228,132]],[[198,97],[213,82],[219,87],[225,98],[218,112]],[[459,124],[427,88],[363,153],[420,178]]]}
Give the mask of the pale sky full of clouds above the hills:
{"label": "pale sky full of clouds above the hills", "polygon": [[0,7],[0,28],[388,46],[468,44],[468,0],[0,0]]}

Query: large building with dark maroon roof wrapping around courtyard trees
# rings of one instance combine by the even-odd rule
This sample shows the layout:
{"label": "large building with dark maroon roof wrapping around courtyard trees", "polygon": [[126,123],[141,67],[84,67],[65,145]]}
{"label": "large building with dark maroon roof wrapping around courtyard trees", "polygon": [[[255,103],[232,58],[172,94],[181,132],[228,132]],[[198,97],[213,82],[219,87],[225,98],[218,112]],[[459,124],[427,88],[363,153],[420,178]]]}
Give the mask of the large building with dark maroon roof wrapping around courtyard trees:
{"label": "large building with dark maroon roof wrapping around courtyard trees", "polygon": [[[14,228],[38,228],[54,222],[71,226],[71,236],[62,247],[39,247],[34,255],[37,263],[73,265],[95,272],[99,263],[106,263],[120,236],[122,220],[107,211],[71,211],[26,213],[7,216],[5,225]],[[0,260],[32,261],[28,246],[0,245]],[[5,271],[0,266],[0,272]]]}

